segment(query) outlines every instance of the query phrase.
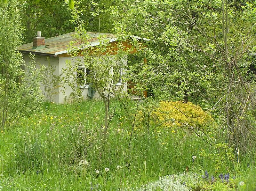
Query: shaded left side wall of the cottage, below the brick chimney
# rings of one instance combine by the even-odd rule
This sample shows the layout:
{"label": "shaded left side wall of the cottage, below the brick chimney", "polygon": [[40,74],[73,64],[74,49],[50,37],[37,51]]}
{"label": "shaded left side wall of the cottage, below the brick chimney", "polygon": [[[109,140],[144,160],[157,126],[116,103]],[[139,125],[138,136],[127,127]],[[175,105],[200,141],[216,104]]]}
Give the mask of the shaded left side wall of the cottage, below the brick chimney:
{"label": "shaded left side wall of the cottage, below the brick chimney", "polygon": [[[23,54],[23,60],[25,61],[26,64],[28,64],[31,59],[29,58],[28,54]],[[57,76],[60,75],[58,57],[49,56],[49,61],[48,61],[47,56],[36,55],[35,61],[36,61],[36,68],[39,68],[39,64],[45,65],[47,67],[50,62],[56,68],[56,70],[54,71],[54,75],[57,75]],[[55,89],[56,89],[56,92],[59,92],[59,88],[55,88]],[[42,84],[41,84],[41,90],[43,91]],[[59,103],[59,94],[56,95],[56,97],[53,99],[53,102]]]}

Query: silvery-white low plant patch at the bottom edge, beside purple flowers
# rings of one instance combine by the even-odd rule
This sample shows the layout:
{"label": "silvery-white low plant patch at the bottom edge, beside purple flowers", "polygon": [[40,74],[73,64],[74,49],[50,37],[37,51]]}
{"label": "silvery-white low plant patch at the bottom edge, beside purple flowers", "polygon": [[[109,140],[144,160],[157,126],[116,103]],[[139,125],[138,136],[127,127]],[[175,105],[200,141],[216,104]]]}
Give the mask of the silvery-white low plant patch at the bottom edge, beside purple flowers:
{"label": "silvery-white low plant patch at the bottom edge, beside purple flowers", "polygon": [[174,180],[173,175],[159,177],[157,181],[149,182],[142,185],[140,188],[125,188],[124,190],[119,191],[155,191],[157,189],[161,189],[163,191],[189,191],[189,188],[180,184],[179,180]]}

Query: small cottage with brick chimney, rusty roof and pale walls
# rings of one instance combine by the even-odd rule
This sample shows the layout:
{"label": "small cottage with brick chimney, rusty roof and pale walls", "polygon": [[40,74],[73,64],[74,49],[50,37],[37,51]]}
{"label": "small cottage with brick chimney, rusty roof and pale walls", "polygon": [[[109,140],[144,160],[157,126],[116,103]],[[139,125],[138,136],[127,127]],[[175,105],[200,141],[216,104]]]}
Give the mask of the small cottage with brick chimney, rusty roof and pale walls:
{"label": "small cottage with brick chimney, rusty roof and pale walls", "polygon": [[[76,32],[67,33],[63,35],[59,35],[56,37],[45,39],[44,37],[41,37],[41,32],[37,31],[37,36],[33,37],[33,42],[21,45],[18,49],[23,54],[23,59],[25,62],[29,62],[29,54],[32,53],[36,55],[36,63],[37,67],[39,64],[47,66],[49,62],[51,63],[56,70],[54,71],[54,75],[60,76],[61,70],[66,67],[66,62],[74,62],[76,60],[76,57],[71,57],[68,55],[68,45],[70,44],[70,41],[76,41],[73,46],[77,46],[81,48],[80,43],[78,42],[74,36]],[[99,45],[100,41],[98,39],[99,35],[105,35],[106,39],[109,40],[109,43],[111,46],[115,47],[115,42],[117,41],[117,38],[114,34],[109,33],[94,33],[94,32],[87,32],[87,35],[89,35],[90,40],[89,44],[90,47],[94,47]],[[135,39],[138,40],[148,40],[144,38],[140,38],[138,36],[132,36]],[[123,45],[127,48],[131,48],[132,45],[129,44],[129,42],[123,42]],[[88,48],[88,46],[87,46]],[[130,54],[135,53],[136,50],[132,51]],[[104,56],[104,55],[102,55]],[[113,53],[113,55],[115,54]],[[78,59],[81,59],[81,56],[77,57]],[[124,64],[127,64],[127,55],[124,56]],[[81,75],[81,73],[77,72],[76,74],[76,86],[78,88],[82,88],[82,96],[87,99],[89,97],[97,97],[97,95],[93,96],[92,91],[88,91],[91,87],[89,84],[86,83],[86,74],[88,74],[89,70],[87,68],[81,67],[78,70],[83,70],[85,75]],[[124,74],[125,70],[122,68],[119,69],[120,72],[120,79],[119,83],[116,83],[116,86],[120,86],[122,84],[122,75]],[[127,90],[127,82],[123,82],[124,86],[122,88],[124,91]],[[70,87],[65,87],[65,95],[63,93],[64,87],[55,86],[52,87],[56,89],[56,95],[52,99],[55,103],[63,103],[67,96],[69,96],[72,93],[72,89]]]}

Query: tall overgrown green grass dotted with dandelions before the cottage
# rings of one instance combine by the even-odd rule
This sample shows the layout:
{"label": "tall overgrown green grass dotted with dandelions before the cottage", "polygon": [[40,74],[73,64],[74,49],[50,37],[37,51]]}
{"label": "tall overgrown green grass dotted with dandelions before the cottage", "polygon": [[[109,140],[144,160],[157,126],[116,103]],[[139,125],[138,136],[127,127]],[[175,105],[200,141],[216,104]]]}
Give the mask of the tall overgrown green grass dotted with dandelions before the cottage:
{"label": "tall overgrown green grass dotted with dandelions before the cottage", "polygon": [[[117,190],[140,187],[159,176],[185,171],[203,174],[205,170],[215,177],[230,173],[237,182],[244,181],[246,189],[255,188],[255,158],[240,156],[237,164],[236,156],[230,158],[232,152],[214,144],[221,142],[217,134],[209,144],[188,129],[132,131],[122,104],[115,102],[115,106],[104,143],[104,106],[96,100],[67,106],[45,103],[41,113],[2,132],[0,188]],[[136,108],[136,103],[130,102],[129,107]],[[81,160],[87,164],[80,165]]]}

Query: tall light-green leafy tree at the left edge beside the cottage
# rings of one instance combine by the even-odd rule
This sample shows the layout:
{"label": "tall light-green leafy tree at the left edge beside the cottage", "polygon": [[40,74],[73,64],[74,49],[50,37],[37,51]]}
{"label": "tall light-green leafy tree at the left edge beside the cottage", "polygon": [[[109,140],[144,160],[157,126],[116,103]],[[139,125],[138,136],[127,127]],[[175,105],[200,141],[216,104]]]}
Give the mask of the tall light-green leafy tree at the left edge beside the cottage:
{"label": "tall light-green leafy tree at the left edge beside the cottage", "polygon": [[[22,41],[20,2],[0,4],[0,128],[11,127],[18,119],[38,109],[43,97],[39,72],[31,62],[23,63],[17,47]],[[23,69],[23,70],[22,70]]]}

